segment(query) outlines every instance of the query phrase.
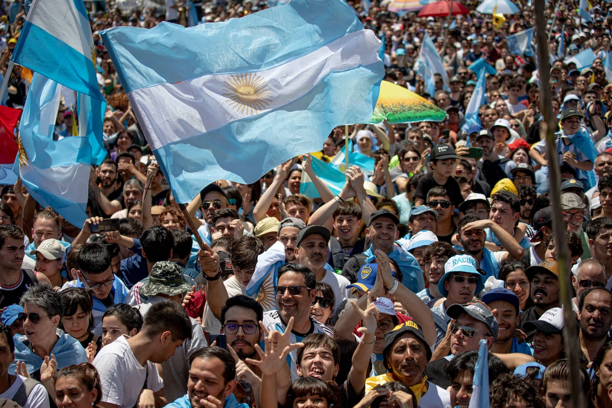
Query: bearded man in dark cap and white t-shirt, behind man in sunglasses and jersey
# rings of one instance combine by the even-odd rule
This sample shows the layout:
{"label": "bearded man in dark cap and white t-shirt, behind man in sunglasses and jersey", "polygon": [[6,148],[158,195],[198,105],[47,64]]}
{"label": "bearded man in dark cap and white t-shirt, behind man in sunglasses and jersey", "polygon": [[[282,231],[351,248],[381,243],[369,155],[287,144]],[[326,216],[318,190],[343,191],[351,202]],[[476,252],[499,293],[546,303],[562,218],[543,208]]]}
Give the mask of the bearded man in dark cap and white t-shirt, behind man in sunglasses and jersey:
{"label": "bearded man in dark cap and white t-shirt, behind man in sunglasses and jersey", "polygon": [[327,255],[329,250],[329,229],[320,225],[308,226],[297,236],[297,247],[295,249],[296,259],[299,264],[315,272],[316,281],[329,284],[334,289],[334,297],[337,304],[343,300],[353,297],[349,289],[351,284],[348,279],[334,272],[334,269],[327,265]]}

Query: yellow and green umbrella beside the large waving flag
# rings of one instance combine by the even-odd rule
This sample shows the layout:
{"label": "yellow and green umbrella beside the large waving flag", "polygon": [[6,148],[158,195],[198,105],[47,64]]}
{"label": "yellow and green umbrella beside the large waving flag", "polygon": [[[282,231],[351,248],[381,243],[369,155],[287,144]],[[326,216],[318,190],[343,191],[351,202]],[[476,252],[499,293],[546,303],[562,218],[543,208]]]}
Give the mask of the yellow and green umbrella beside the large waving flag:
{"label": "yellow and green umbrella beside the large waving flag", "polygon": [[408,91],[389,81],[381,82],[381,91],[376,102],[370,123],[380,123],[384,119],[390,124],[444,121],[446,112],[427,99]]}

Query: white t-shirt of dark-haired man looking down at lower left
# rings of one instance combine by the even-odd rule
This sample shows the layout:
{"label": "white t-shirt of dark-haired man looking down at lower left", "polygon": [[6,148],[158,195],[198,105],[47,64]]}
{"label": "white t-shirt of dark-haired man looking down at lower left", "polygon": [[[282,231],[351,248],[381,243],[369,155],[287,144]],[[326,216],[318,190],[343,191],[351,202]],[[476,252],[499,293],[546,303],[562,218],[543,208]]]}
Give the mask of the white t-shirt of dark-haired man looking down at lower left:
{"label": "white t-shirt of dark-haired man looking down at lower left", "polygon": [[163,380],[159,376],[157,366],[152,362],[147,362],[146,367],[141,366],[124,336],[102,347],[95,356],[94,366],[100,374],[102,402],[121,408],[135,406],[138,395],[143,390],[147,370],[149,377],[146,388],[154,392],[163,388]]}

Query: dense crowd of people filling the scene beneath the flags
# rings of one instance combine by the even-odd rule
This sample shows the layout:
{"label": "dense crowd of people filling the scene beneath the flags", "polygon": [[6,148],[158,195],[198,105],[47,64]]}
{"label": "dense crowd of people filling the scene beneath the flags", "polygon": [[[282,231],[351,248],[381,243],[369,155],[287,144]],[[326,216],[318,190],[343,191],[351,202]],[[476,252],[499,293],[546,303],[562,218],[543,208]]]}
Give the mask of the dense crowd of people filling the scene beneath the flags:
{"label": "dense crowd of people filling the scene beneath the flags", "polygon": [[[446,18],[394,12],[387,0],[348,0],[365,28],[384,36],[384,80],[444,109],[444,121],[335,128],[319,152],[253,184],[202,186],[186,210],[99,31],[189,25],[196,6],[166,0],[165,15],[125,15],[110,2],[94,9],[108,157],[91,169],[89,218],[72,225],[20,180],[1,186],[0,404],[467,408],[484,342],[491,407],[577,406],[570,377],[588,407],[612,407],[610,6],[591,2],[589,21],[577,2],[546,4],[552,69],[542,84],[535,55],[512,54],[506,40],[534,24],[532,2],[501,26],[477,2],[461,2],[469,14],[449,27]],[[226,21],[269,3],[216,0],[195,15]],[[15,7],[0,21],[2,72],[24,24]],[[436,73],[433,94],[415,69],[425,35],[449,78]],[[588,48],[589,67],[567,60]],[[470,65],[480,58],[497,73],[486,77],[480,125],[466,127],[477,86]],[[24,105],[28,77],[15,67],[8,106]],[[541,105],[544,86],[552,106]],[[75,125],[75,95],[62,95],[58,140]],[[559,169],[540,137],[545,109],[558,118]],[[335,194],[313,160],[345,148],[375,166],[350,166]],[[563,179],[581,358],[573,373],[550,171]],[[306,176],[316,197],[300,194]],[[118,227],[99,232],[109,219]]]}

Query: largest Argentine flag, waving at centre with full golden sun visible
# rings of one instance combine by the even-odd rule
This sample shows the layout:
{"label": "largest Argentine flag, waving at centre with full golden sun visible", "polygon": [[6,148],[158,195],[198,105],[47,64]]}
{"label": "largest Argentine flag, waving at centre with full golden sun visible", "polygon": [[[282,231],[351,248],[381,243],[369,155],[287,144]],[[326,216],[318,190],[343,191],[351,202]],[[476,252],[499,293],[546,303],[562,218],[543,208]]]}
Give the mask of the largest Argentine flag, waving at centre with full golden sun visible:
{"label": "largest Argentine flag, waving at centre with full golden sun visible", "polygon": [[253,183],[367,122],[384,75],[381,42],[342,0],[102,38],[178,202],[218,179]]}

